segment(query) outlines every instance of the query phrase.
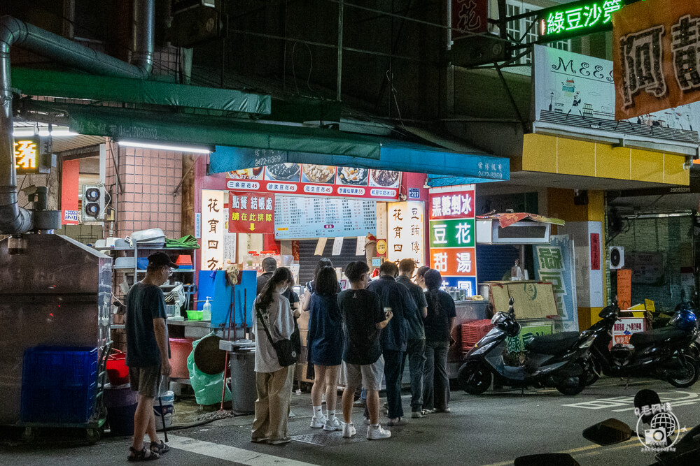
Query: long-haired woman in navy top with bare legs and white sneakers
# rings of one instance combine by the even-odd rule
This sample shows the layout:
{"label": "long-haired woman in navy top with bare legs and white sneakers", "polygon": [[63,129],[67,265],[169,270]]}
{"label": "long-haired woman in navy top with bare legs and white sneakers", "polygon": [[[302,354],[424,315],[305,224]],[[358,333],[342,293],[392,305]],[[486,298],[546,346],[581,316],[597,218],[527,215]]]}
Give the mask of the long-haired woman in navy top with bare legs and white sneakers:
{"label": "long-haired woman in navy top with bare legs and white sneakers", "polygon": [[[343,328],[338,309],[337,275],[331,267],[324,267],[314,280],[314,294],[309,300],[309,344],[307,361],[314,365],[314,386],[311,387],[311,407],[314,416],[311,428],[340,430],[335,417],[337,386],[343,355]],[[321,395],[325,392],[326,416],[323,416]]]}

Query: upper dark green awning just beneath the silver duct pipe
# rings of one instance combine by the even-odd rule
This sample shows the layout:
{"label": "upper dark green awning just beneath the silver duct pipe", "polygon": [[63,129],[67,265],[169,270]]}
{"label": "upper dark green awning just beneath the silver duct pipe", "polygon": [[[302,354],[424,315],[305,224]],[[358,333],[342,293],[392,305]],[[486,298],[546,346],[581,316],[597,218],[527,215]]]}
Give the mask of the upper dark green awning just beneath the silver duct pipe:
{"label": "upper dark green awning just beneath the silver duct pipe", "polygon": [[64,71],[12,68],[12,86],[29,96],[65,97],[269,115],[270,96],[237,91]]}

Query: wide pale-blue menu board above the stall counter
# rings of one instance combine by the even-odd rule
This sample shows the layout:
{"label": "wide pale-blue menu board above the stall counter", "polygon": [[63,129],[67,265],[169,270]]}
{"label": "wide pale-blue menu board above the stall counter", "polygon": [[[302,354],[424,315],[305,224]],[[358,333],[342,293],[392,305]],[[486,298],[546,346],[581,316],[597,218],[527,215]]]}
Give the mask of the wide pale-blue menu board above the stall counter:
{"label": "wide pale-blue menu board above the stall counter", "polygon": [[275,196],[274,239],[365,236],[377,231],[377,207],[365,199]]}

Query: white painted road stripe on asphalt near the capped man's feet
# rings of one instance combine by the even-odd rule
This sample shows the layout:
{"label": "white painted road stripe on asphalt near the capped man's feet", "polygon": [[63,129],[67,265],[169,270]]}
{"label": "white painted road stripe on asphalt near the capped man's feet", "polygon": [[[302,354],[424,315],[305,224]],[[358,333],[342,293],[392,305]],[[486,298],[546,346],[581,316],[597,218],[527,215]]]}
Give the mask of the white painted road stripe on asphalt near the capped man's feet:
{"label": "white painted road stripe on asphalt near the capped man's feet", "polygon": [[231,463],[238,463],[248,466],[314,466],[312,463],[281,458],[280,456],[267,455],[258,451],[250,451],[213,442],[192,439],[190,437],[180,437],[179,435],[169,435],[168,445],[172,449],[189,451],[197,455],[209,456],[219,460],[227,460]]}

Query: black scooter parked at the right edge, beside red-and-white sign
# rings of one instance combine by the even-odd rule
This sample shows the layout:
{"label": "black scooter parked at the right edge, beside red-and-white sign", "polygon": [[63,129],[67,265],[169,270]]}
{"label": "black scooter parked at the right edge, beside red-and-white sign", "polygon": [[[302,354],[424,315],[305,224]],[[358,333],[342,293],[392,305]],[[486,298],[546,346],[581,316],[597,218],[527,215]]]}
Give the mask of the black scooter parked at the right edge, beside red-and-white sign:
{"label": "black scooter parked at the right edge, beside red-and-white sign", "polygon": [[595,335],[591,347],[586,384],[594,383],[601,374],[609,377],[645,377],[668,381],[676,387],[692,386],[700,376],[696,340],[700,338],[697,319],[688,306],[675,312],[668,326],[633,333],[633,348],[612,342],[612,329],[619,321],[619,307],[612,303],[598,314],[601,321],[587,332]]}

